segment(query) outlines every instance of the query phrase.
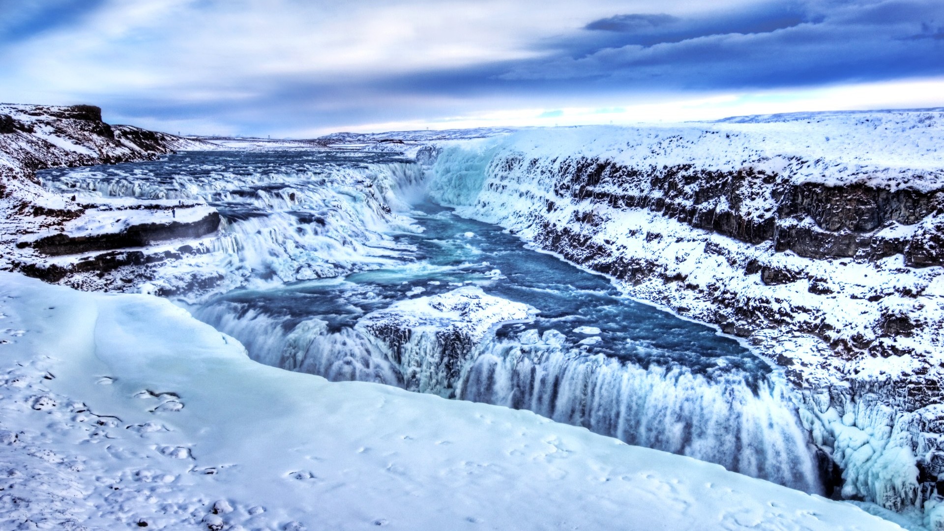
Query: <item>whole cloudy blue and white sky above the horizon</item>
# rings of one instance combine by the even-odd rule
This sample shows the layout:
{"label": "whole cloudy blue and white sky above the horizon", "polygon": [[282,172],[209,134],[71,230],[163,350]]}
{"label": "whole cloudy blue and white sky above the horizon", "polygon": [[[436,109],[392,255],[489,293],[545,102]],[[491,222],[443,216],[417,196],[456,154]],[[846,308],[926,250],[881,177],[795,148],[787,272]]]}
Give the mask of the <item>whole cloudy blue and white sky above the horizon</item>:
{"label": "whole cloudy blue and white sky above the horizon", "polygon": [[944,107],[944,0],[0,0],[0,101],[293,138]]}

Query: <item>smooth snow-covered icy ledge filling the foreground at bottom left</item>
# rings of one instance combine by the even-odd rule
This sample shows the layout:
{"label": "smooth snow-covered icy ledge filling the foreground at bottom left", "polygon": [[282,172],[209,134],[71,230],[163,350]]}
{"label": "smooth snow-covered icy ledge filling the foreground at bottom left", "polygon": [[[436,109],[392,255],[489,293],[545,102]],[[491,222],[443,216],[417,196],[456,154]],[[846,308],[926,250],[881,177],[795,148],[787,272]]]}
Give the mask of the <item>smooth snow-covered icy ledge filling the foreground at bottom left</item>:
{"label": "smooth snow-covered icy ledge filling the foreground at bottom left", "polygon": [[900,529],[527,411],[265,367],[166,300],[0,291],[3,528]]}

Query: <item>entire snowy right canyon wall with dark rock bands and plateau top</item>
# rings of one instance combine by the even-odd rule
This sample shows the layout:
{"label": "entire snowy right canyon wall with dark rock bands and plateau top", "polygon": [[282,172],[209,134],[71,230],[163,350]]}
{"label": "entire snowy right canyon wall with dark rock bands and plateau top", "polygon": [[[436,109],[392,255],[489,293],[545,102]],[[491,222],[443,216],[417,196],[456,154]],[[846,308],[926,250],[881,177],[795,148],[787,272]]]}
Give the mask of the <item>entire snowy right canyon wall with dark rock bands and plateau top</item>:
{"label": "entire snowy right canyon wall with dark rock bands and plateau top", "polygon": [[795,385],[836,495],[933,507],[944,112],[743,122],[434,146],[430,195],[747,338]]}

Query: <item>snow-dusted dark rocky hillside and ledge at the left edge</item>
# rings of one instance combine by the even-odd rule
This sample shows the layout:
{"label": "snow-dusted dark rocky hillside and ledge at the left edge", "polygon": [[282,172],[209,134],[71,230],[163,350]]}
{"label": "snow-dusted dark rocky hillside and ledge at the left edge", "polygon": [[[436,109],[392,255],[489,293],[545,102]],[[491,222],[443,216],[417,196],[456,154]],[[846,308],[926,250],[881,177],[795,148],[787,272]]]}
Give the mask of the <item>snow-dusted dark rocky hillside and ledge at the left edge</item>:
{"label": "snow-dusted dark rocky hillside and ledge at the left edge", "polygon": [[[43,190],[35,172],[152,160],[198,146],[166,133],[110,126],[91,105],[0,104],[0,268],[91,289],[102,286],[78,277],[116,272],[111,276],[118,284],[146,277],[147,265],[177,256],[173,246],[147,246],[216,231],[219,214],[192,201],[89,203],[73,193]],[[107,252],[95,254],[101,251]]]}

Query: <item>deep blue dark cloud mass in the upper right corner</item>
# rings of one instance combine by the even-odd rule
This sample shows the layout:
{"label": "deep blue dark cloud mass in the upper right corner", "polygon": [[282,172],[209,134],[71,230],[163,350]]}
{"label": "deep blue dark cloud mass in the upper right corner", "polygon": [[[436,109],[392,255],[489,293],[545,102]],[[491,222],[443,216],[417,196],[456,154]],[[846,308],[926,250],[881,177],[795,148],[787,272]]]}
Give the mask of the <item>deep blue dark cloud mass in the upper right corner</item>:
{"label": "deep blue dark cloud mass in the upper right corner", "polygon": [[[648,15],[655,16],[655,15]],[[772,88],[944,74],[944,2],[786,3],[698,20],[620,15],[499,76],[510,83],[665,89]],[[618,31],[615,28],[621,21]],[[607,37],[595,40],[600,33]]]}

